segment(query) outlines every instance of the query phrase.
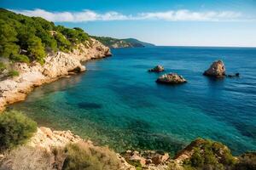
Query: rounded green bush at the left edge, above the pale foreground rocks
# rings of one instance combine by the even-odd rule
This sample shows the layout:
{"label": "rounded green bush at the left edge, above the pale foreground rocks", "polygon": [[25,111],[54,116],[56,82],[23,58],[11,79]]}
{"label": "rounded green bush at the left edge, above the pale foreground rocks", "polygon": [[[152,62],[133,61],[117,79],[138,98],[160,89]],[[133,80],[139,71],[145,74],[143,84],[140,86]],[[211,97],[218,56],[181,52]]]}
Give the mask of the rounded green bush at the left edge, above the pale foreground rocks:
{"label": "rounded green bush at the left edge, above the pale foreground rocks", "polygon": [[0,151],[26,143],[36,130],[37,123],[19,111],[4,111],[0,115]]}

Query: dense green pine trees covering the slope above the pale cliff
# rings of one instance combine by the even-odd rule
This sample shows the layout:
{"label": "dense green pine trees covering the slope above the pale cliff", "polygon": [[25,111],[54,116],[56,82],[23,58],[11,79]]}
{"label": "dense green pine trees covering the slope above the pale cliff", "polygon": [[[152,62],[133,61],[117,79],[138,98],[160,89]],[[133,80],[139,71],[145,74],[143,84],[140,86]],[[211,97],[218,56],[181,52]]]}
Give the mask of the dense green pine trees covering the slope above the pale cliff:
{"label": "dense green pine trees covering the slope above the pale cliff", "polygon": [[[0,59],[44,63],[49,52],[67,52],[90,37],[80,28],[55,26],[40,17],[27,17],[0,8]],[[1,61],[1,60],[0,60]],[[0,71],[5,64],[0,62]]]}

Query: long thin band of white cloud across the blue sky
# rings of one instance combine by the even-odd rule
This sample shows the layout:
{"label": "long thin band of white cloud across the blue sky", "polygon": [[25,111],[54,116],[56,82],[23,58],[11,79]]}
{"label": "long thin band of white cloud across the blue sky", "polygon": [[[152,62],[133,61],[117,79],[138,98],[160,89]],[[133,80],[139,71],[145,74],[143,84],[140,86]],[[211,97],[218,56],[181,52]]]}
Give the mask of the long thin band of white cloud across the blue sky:
{"label": "long thin band of white cloud across the blue sky", "polygon": [[[11,9],[12,10],[12,9]],[[187,9],[165,12],[139,13],[125,15],[114,11],[104,14],[85,9],[81,12],[49,12],[44,9],[12,10],[27,16],[40,16],[54,22],[86,22],[94,20],[168,20],[168,21],[234,21],[242,20],[242,14],[233,11],[193,12]]]}

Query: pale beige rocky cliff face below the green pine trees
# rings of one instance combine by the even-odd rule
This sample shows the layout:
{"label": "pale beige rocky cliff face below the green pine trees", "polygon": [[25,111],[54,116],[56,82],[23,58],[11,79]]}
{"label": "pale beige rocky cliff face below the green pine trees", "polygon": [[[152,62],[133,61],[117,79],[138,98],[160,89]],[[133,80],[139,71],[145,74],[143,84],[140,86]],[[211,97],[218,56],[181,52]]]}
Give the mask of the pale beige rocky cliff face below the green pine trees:
{"label": "pale beige rocky cliff face below the green pine trees", "polygon": [[37,62],[30,65],[16,63],[13,67],[20,72],[20,76],[0,82],[0,111],[4,110],[5,105],[26,99],[26,94],[30,93],[34,87],[75,72],[85,71],[81,61],[100,59],[110,55],[108,47],[91,39],[90,42],[79,44],[73,52],[48,54],[44,65]]}

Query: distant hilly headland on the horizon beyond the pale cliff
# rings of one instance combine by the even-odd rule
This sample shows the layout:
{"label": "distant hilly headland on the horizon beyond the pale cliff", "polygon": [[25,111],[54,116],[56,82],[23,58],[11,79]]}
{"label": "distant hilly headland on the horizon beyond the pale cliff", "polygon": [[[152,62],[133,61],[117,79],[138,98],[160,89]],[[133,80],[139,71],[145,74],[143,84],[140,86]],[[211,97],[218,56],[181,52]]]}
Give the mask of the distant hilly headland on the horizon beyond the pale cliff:
{"label": "distant hilly headland on the horizon beyond the pale cliff", "polygon": [[152,43],[141,42],[135,38],[117,39],[113,37],[92,37],[109,48],[144,48],[154,46]]}

